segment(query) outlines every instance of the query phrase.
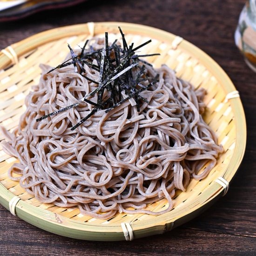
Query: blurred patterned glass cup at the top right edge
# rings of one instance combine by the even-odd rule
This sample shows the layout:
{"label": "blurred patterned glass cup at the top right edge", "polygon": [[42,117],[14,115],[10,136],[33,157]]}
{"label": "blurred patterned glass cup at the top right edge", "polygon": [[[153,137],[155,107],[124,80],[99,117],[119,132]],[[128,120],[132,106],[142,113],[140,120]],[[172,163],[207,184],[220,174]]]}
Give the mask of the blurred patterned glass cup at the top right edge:
{"label": "blurred patterned glass cup at the top right edge", "polygon": [[247,0],[235,33],[236,46],[248,66],[256,72],[256,0]]}

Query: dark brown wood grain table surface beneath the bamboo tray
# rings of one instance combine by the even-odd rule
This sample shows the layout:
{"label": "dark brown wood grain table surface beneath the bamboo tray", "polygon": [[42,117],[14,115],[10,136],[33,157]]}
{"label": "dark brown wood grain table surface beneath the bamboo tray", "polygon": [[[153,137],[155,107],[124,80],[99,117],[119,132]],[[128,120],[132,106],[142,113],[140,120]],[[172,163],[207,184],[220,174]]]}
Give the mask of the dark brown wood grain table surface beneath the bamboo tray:
{"label": "dark brown wood grain table surface beneath the bamboo tray", "polygon": [[0,24],[0,48],[46,29],[88,21],[127,21],[189,40],[226,71],[241,99],[248,139],[228,194],[196,219],[133,242],[90,242],[40,230],[0,206],[0,255],[256,255],[256,74],[244,63],[234,31],[244,0],[91,0]]}

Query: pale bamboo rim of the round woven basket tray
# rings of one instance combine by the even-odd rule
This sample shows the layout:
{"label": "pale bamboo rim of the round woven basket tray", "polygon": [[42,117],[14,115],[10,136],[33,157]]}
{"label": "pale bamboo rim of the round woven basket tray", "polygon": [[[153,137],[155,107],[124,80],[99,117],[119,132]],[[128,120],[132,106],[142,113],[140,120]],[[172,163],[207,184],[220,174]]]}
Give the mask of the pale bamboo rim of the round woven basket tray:
{"label": "pale bamboo rim of the round woven basket tray", "polygon": [[[117,27],[121,26],[123,31],[129,31],[130,34],[140,36],[154,37],[162,42],[174,42],[177,37],[160,29],[122,22],[99,22],[94,23],[94,33],[101,34],[105,31],[117,32]],[[17,57],[33,51],[48,42],[60,40],[64,37],[77,36],[85,33],[91,33],[88,24],[80,24],[68,27],[51,29],[39,34],[35,34],[27,39],[11,45]],[[222,68],[205,54],[198,47],[195,47],[186,40],[181,40],[178,45],[179,49],[188,52],[195,57],[200,64],[206,67],[215,78],[217,83],[222,86],[223,92],[229,94],[236,90],[228,75]],[[4,53],[0,53],[0,68],[7,68],[11,65],[12,60]],[[235,175],[244,155],[246,145],[246,123],[243,112],[243,106],[240,98],[233,98],[229,101],[230,107],[234,114],[235,138],[236,145],[229,164],[222,171],[222,177],[230,182]],[[202,210],[208,208],[224,192],[224,189],[217,182],[211,181],[209,186],[203,189],[202,193],[197,195],[193,204],[180,211],[169,212],[161,216],[154,216],[150,220],[134,222],[132,225],[135,238],[159,234],[171,230],[176,226],[197,216]],[[9,209],[9,202],[13,198],[7,188],[0,183],[0,203]],[[20,200],[16,205],[16,214],[21,219],[30,222],[42,229],[51,231],[64,236],[87,239],[87,240],[124,240],[123,231],[120,224],[110,223],[102,224],[80,222],[59,216],[53,212],[34,207],[27,202]],[[100,234],[100,235],[99,235]]]}

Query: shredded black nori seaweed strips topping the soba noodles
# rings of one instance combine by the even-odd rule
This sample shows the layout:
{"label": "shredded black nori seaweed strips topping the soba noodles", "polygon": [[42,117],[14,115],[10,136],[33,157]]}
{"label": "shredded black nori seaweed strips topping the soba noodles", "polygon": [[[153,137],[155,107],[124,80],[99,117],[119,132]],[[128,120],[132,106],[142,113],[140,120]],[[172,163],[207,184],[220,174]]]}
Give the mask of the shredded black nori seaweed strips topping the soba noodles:
{"label": "shredded black nori seaweed strips topping the soba noodles", "polygon": [[[155,77],[154,79],[148,77],[145,65],[152,65],[140,58],[160,54],[135,54],[135,51],[150,43],[151,40],[148,40],[135,48],[134,43],[128,46],[125,34],[122,32],[121,27],[118,28],[121,33],[123,48],[116,44],[117,39],[111,46],[108,45],[108,32],[105,33],[105,44],[99,50],[95,50],[92,46],[90,46],[89,49],[86,49],[89,41],[86,40],[84,46],[81,47],[81,54],[76,55],[74,54],[74,50],[68,45],[71,58],[57,67],[52,68],[48,73],[73,64],[74,72],[81,74],[81,76],[89,82],[97,85],[97,88],[86,94],[82,99],[78,100],[77,103],[56,110],[48,115],[41,116],[36,119],[37,122],[49,116],[57,115],[68,109],[77,107],[82,101],[94,106],[92,111],[90,111],[86,117],[81,119],[81,121],[71,128],[71,130],[74,130],[94,115],[99,109],[104,109],[105,112],[108,113],[112,109],[120,106],[123,102],[133,98],[136,103],[137,111],[140,112],[140,101],[148,103],[148,100],[143,98],[140,93],[157,83],[158,77]],[[93,64],[94,60],[97,61],[98,65]],[[143,63],[143,65],[140,63]],[[94,81],[88,77],[84,65],[88,65],[99,72],[98,81]],[[149,84],[143,85],[143,82],[145,81],[149,81]],[[127,97],[124,98],[122,92],[124,92]],[[97,94],[97,102],[88,99],[94,94]]]}

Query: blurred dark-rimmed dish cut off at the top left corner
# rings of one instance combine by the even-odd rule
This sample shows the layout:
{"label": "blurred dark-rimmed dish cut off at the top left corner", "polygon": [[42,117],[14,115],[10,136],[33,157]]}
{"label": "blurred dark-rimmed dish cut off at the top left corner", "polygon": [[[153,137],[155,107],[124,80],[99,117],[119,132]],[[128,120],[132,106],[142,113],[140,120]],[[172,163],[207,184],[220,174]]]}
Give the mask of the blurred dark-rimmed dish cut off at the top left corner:
{"label": "blurred dark-rimmed dish cut off at the top left corner", "polygon": [[0,22],[18,20],[28,15],[79,4],[85,0],[0,0]]}

